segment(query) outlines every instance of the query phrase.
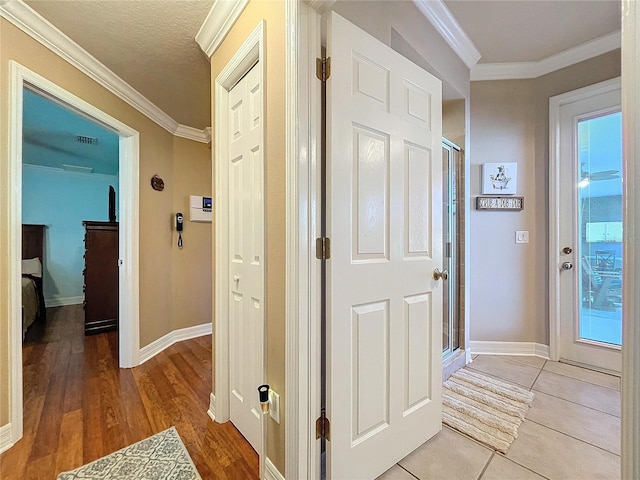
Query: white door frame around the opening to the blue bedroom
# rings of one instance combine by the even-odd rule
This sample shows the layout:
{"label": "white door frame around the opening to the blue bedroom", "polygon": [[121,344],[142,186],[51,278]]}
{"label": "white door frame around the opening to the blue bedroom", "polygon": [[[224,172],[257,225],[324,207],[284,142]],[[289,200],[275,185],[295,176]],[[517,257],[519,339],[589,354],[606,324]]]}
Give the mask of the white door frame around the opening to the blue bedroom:
{"label": "white door frame around the opening to the blue bedroom", "polygon": [[[12,185],[12,189],[7,193],[8,203],[8,250],[9,250],[9,275],[10,278],[16,280],[12,282],[9,293],[9,412],[10,412],[10,430],[8,441],[5,442],[9,447],[15,444],[24,433],[24,396],[23,396],[23,376],[29,375],[29,371],[23,372],[23,355],[22,355],[22,306],[21,306],[21,292],[18,278],[21,276],[21,247],[22,247],[22,228],[23,223],[23,208],[25,214],[29,211],[31,205],[28,203],[35,203],[35,194],[32,190],[29,190],[27,177],[33,173],[31,171],[26,172],[31,167],[23,166],[23,147],[25,147],[29,141],[36,144],[37,148],[42,145],[38,143],[46,143],[44,137],[46,132],[30,132],[28,128],[23,128],[23,107],[25,103],[28,106],[30,100],[27,99],[31,93],[35,93],[45,99],[52,100],[56,105],[62,106],[67,110],[71,110],[77,115],[80,115],[85,120],[90,120],[94,124],[100,125],[106,130],[110,131],[112,135],[116,137],[117,142],[117,155],[118,155],[118,177],[117,182],[113,185],[113,194],[110,195],[110,189],[104,191],[103,196],[107,202],[105,205],[105,215],[107,221],[109,220],[110,210],[109,203],[113,203],[116,213],[119,235],[117,244],[117,256],[115,257],[115,264],[117,265],[116,275],[118,278],[117,298],[118,298],[118,317],[120,319],[118,332],[115,333],[116,348],[111,350],[114,354],[114,361],[119,367],[132,367],[139,362],[140,348],[139,348],[139,324],[138,324],[138,278],[139,278],[139,260],[138,260],[138,244],[139,244],[139,224],[138,210],[139,210],[139,133],[119,120],[111,117],[103,111],[97,109],[93,105],[86,101],[76,97],[72,93],[64,90],[56,84],[50,82],[46,78],[36,74],[35,72],[23,67],[17,62],[9,63],[10,70],[10,95],[9,95],[9,108],[10,108],[10,122],[8,123],[8,139],[9,139],[9,155],[8,155],[8,183]],[[34,98],[31,98],[34,100]],[[35,100],[39,100],[35,98]],[[24,130],[24,132],[23,132]],[[25,139],[29,135],[34,135],[32,139]],[[81,137],[91,137],[91,135],[80,134]],[[25,141],[27,140],[27,141]],[[50,139],[51,140],[51,139]],[[78,142],[78,138],[75,138]],[[90,138],[81,138],[82,141],[91,141]],[[106,141],[106,140],[105,140]],[[100,138],[98,138],[98,143]],[[26,147],[28,150],[30,147]],[[36,148],[36,149],[37,149]],[[58,146],[58,149],[64,150],[64,148]],[[51,155],[49,155],[51,157]],[[70,165],[71,169],[75,167],[82,167],[80,163],[81,156],[76,155],[73,163],[66,163]],[[27,180],[25,188],[25,198],[23,200],[23,167],[25,168],[24,177]],[[51,165],[49,166],[53,168]],[[63,171],[71,171],[70,169]],[[51,172],[49,172],[51,173]],[[85,172],[78,171],[76,168],[75,174],[86,174]],[[50,188],[50,184],[57,184],[62,186],[64,181],[59,178],[48,178],[46,180],[39,180],[41,188],[43,183],[49,184],[47,188]],[[111,185],[111,184],[109,184]],[[107,185],[107,188],[108,186]],[[100,190],[99,188],[97,190]],[[32,192],[32,196],[28,197],[27,194]],[[49,192],[46,198],[39,199],[39,205],[44,208],[45,204],[47,208],[55,207],[62,203],[63,193]],[[117,201],[116,201],[117,197]],[[110,199],[113,201],[110,202]],[[84,199],[76,199],[76,203],[85,203]],[[36,219],[30,220],[35,221]],[[112,222],[115,223],[115,222]],[[82,223],[81,223],[82,225]],[[43,229],[44,230],[44,229]],[[64,230],[64,229],[63,229]],[[41,235],[41,238],[46,242],[48,234],[45,232]],[[82,260],[83,257],[83,244],[78,249],[76,248],[75,255]],[[48,246],[42,248],[44,252],[41,255],[44,258],[44,276],[43,281],[46,282],[49,271],[49,265],[47,264],[47,251]],[[76,257],[76,258],[77,258]],[[55,256],[49,257],[51,262],[57,262],[58,258]],[[84,270],[84,268],[83,268]],[[59,288],[60,285],[56,282],[53,284],[54,291]],[[43,287],[43,293],[47,291],[47,287]],[[85,292],[81,292],[82,293]],[[69,298],[72,297],[60,297]],[[58,300],[59,301],[59,300]],[[55,302],[54,302],[55,303]],[[83,303],[83,302],[81,302]],[[82,305],[76,304],[76,309],[80,310],[82,314]],[[114,332],[111,332],[114,334]],[[84,338],[95,338],[84,337]],[[118,348],[119,347],[119,348]],[[67,352],[73,351],[74,345],[66,345],[65,350]],[[38,350],[38,349],[36,349]],[[40,355],[46,353],[46,347],[38,350]],[[37,352],[36,352],[37,353]],[[45,355],[46,356],[46,355]],[[53,373],[53,372],[50,372]],[[8,447],[7,447],[8,448]]]}

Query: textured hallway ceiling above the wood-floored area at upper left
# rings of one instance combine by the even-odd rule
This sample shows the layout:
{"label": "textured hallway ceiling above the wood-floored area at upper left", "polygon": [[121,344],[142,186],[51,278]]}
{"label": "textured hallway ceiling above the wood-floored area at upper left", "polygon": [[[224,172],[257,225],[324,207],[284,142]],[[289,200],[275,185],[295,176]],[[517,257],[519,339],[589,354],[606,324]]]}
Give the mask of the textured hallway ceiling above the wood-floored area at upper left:
{"label": "textured hallway ceiling above the wood-floored area at upper left", "polygon": [[178,123],[211,126],[211,67],[194,38],[213,0],[25,3]]}

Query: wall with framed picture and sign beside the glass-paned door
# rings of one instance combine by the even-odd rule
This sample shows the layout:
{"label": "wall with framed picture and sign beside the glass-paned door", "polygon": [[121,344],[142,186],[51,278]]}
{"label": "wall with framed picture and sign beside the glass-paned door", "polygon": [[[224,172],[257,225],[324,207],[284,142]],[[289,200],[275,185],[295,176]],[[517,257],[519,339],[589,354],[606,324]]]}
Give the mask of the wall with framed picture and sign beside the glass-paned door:
{"label": "wall with framed picture and sign beside the glass-paned door", "polygon": [[469,212],[472,341],[549,344],[549,97],[619,75],[617,50],[536,79],[471,83],[472,204],[485,162],[517,162],[525,197],[522,212]]}

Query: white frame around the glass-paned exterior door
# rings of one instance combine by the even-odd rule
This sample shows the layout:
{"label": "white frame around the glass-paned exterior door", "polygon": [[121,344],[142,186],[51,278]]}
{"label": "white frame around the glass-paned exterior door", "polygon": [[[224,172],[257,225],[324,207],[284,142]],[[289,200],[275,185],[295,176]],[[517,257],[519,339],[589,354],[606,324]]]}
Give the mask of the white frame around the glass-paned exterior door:
{"label": "white frame around the glass-paned exterior door", "polygon": [[560,360],[560,109],[619,88],[620,77],[549,99],[549,356],[554,361]]}

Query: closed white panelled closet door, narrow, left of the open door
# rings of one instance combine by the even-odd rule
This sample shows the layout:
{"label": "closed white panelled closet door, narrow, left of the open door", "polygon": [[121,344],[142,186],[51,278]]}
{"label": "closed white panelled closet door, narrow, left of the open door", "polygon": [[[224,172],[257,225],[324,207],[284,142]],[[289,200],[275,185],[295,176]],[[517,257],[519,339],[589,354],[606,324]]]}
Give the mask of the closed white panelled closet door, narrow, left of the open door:
{"label": "closed white panelled closet door, narrow, left of the open door", "polygon": [[260,451],[257,388],[264,380],[262,86],[253,67],[229,92],[230,417]]}

